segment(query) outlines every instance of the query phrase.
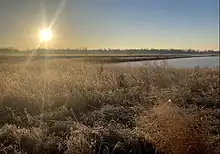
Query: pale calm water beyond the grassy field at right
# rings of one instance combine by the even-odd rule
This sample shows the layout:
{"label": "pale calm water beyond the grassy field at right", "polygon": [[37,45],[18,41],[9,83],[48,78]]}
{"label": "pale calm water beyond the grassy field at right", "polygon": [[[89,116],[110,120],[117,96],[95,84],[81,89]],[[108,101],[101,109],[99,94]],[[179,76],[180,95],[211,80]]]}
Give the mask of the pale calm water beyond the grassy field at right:
{"label": "pale calm water beyond the grassy field at right", "polygon": [[219,67],[219,57],[196,57],[196,58],[180,58],[167,60],[139,61],[139,62],[123,62],[112,65],[142,67],[148,64],[163,65],[173,68],[194,68],[194,67]]}

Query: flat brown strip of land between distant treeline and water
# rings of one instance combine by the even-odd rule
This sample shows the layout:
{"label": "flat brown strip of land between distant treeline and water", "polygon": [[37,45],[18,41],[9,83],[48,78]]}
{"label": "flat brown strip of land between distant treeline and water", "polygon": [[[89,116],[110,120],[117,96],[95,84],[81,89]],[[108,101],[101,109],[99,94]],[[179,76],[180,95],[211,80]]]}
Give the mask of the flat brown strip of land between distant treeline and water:
{"label": "flat brown strip of land between distant treeline and water", "polygon": [[34,54],[34,55],[15,55],[15,54],[0,54],[0,63],[4,62],[21,62],[27,59],[35,60],[54,60],[54,59],[74,59],[76,61],[91,62],[91,63],[121,63],[121,62],[136,62],[150,60],[166,60],[166,59],[182,59],[196,57],[216,57],[219,55],[174,55],[174,54],[151,54],[151,55],[117,55],[117,54]]}

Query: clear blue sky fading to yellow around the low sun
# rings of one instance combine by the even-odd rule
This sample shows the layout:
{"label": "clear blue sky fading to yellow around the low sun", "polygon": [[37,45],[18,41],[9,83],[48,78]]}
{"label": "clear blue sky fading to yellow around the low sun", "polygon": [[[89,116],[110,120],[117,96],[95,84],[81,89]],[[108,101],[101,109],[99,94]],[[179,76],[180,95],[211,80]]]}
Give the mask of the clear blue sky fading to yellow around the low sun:
{"label": "clear blue sky fading to yellow around the low sun", "polygon": [[0,48],[219,50],[219,0],[0,0]]}

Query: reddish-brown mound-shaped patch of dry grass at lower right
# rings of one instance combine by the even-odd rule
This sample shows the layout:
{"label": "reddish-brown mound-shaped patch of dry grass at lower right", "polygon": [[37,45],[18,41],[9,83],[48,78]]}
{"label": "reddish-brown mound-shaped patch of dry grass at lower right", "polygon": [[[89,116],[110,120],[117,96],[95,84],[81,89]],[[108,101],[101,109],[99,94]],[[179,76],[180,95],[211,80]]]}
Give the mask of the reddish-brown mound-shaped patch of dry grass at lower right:
{"label": "reddish-brown mound-shaped patch of dry grass at lower right", "polygon": [[138,129],[144,132],[159,151],[165,153],[212,153],[206,124],[171,103],[154,107],[139,118]]}

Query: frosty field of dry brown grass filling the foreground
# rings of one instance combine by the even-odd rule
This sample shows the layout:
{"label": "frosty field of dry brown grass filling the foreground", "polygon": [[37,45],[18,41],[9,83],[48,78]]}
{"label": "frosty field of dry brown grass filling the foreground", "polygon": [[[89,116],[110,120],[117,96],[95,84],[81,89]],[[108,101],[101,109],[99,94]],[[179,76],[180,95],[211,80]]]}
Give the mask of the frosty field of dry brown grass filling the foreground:
{"label": "frosty field of dry brown grass filling the foreground", "polygon": [[219,153],[219,70],[0,63],[0,153]]}

